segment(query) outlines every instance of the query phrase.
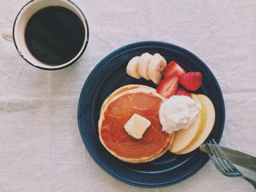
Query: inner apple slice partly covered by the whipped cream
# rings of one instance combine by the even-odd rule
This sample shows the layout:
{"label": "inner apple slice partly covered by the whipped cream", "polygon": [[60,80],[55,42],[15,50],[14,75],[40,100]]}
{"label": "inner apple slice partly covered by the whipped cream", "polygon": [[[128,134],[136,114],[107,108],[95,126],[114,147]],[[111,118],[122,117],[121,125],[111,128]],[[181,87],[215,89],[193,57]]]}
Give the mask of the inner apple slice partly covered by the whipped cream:
{"label": "inner apple slice partly covered by the whipped cream", "polygon": [[[200,102],[195,94],[191,95],[193,100],[195,100],[196,102]],[[202,127],[201,111],[202,110],[200,110],[200,112],[196,116],[195,122],[193,122],[193,124],[191,124],[188,129],[180,129],[176,132],[172,146],[169,149],[170,152],[174,154],[179,152],[180,150],[186,148],[189,143],[195,138],[196,134],[198,134],[198,131],[200,131],[198,128]]]}

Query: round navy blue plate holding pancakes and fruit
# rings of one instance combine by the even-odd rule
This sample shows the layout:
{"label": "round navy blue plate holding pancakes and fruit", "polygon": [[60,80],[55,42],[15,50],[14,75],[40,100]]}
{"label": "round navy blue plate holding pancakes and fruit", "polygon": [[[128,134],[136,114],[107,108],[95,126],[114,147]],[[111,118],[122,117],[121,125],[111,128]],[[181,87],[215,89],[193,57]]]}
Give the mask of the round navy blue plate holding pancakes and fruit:
{"label": "round navy blue plate holding pancakes and fruit", "polygon": [[202,88],[197,93],[209,97],[216,110],[216,120],[208,139],[220,142],[225,122],[225,106],[220,86],[211,70],[191,52],[165,42],[138,42],[111,52],[92,70],[84,83],[78,105],[78,124],[88,152],[109,175],[122,182],[144,188],[170,186],[195,174],[207,163],[208,156],[200,150],[176,156],[166,152],[150,163],[124,163],[102,146],[99,140],[98,120],[100,108],[110,93],[126,84],[145,84],[156,88],[156,84],[145,79],[129,77],[125,68],[134,56],[143,52],[158,52],[167,62],[177,61],[187,71],[203,74]]}

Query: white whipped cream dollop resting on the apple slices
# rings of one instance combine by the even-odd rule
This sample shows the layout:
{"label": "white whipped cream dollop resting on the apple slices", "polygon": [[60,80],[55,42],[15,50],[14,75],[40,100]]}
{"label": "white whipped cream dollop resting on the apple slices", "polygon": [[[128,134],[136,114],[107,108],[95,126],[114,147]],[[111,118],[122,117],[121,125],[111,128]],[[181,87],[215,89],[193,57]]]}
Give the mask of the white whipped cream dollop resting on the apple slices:
{"label": "white whipped cream dollop resting on the apple slices", "polygon": [[199,102],[183,95],[174,95],[165,100],[159,108],[159,120],[163,131],[172,133],[188,129],[200,112]]}

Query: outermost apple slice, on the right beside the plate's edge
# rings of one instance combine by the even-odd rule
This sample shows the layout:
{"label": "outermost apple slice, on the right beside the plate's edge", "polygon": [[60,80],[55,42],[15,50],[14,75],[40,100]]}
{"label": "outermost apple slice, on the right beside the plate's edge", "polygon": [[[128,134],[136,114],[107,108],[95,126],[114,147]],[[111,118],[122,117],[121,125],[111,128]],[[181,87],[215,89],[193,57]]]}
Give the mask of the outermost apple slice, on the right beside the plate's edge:
{"label": "outermost apple slice, on the right beside the plate's edge", "polygon": [[215,110],[211,100],[206,97],[205,95],[197,95],[198,99],[200,100],[202,106],[202,122],[204,122],[202,132],[196,135],[196,137],[189,143],[189,145],[177,152],[176,154],[188,154],[189,152],[198,148],[204,141],[207,139],[209,134],[212,131],[214,122],[215,122]]}

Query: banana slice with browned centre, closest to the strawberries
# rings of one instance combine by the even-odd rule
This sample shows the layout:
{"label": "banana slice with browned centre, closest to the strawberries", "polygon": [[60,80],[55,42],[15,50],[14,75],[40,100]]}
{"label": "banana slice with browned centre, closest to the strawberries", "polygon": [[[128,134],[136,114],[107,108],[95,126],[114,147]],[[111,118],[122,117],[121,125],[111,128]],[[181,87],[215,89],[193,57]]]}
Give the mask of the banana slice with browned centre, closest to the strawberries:
{"label": "banana slice with browned centre, closest to the strawberries", "polygon": [[165,68],[166,60],[164,60],[163,56],[158,53],[154,54],[148,64],[148,77],[150,77],[155,84],[158,84]]}

